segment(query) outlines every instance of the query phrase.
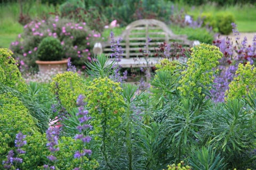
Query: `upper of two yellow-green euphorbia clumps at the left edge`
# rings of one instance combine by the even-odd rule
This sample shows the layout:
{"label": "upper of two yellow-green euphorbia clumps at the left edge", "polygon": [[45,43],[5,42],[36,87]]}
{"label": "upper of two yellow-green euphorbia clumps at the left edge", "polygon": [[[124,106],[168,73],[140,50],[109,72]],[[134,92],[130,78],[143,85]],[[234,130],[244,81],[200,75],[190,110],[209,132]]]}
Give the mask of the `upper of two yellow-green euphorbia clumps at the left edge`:
{"label": "upper of two yellow-green euphorbia clumps at the left edge", "polygon": [[0,83],[19,91],[26,91],[25,80],[17,66],[17,61],[12,57],[11,50],[0,48]]}

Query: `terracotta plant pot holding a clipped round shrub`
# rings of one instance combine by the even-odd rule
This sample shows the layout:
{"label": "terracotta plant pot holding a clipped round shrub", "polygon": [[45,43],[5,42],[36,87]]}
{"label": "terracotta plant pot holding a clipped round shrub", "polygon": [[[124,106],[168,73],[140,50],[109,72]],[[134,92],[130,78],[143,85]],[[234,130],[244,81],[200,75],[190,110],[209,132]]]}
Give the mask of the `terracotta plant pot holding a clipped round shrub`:
{"label": "terracotta plant pot holding a clipped round shrub", "polygon": [[64,59],[61,61],[36,61],[38,64],[39,72],[48,73],[50,71],[55,72],[64,72],[67,70],[68,59]]}

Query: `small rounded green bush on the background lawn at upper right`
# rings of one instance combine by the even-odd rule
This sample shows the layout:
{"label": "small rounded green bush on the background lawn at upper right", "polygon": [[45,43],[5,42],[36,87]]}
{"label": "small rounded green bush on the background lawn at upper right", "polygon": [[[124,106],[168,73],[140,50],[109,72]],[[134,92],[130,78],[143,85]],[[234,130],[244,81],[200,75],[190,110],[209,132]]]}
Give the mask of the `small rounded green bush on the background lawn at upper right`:
{"label": "small rounded green bush on the background lawn at upper right", "polygon": [[218,13],[216,18],[219,32],[229,35],[233,29],[231,23],[235,22],[234,16],[231,13]]}

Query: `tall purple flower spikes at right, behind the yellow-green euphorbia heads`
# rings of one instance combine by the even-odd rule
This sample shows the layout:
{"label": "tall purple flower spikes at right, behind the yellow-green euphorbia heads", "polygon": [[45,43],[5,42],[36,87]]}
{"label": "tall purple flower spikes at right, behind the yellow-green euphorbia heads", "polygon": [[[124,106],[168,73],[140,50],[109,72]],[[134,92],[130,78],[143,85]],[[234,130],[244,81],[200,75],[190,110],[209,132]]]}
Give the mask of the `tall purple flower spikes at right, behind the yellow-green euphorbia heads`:
{"label": "tall purple flower spikes at right, behind the yellow-green euphorbia heads", "polygon": [[256,59],[256,36],[253,39],[252,45],[247,45],[247,38],[244,37],[242,43],[238,40],[239,32],[236,29],[236,24],[232,24],[233,33],[236,37],[236,43],[233,45],[229,37],[223,39],[216,39],[213,44],[220,48],[223,53],[223,57],[220,60],[219,75],[215,76],[213,89],[211,94],[215,102],[223,102],[225,98],[225,92],[229,89],[229,83],[233,80],[237,66],[239,63],[246,63],[250,61],[254,63]]}

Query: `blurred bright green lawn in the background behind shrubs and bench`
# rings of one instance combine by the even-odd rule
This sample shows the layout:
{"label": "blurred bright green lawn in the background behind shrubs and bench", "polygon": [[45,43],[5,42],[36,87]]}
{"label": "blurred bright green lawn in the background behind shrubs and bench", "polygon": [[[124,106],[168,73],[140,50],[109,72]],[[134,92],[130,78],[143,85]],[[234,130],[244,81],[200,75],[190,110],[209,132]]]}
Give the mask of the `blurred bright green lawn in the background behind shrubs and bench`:
{"label": "blurred bright green lawn in the background behind shrubs and bench", "polygon": [[[198,16],[201,12],[217,13],[228,12],[232,13],[237,24],[239,32],[256,32],[256,6],[255,5],[234,5],[217,7],[212,4],[196,6],[192,8],[186,4],[178,4],[178,8],[184,8],[185,12],[191,15]],[[53,6],[34,3],[29,10],[33,18],[44,16],[49,12],[54,12]],[[15,41],[19,33],[22,32],[22,25],[18,23],[19,5],[18,3],[0,4],[0,48],[8,48],[11,42]],[[122,29],[119,29],[119,31]],[[104,32],[104,37],[108,37],[110,32]],[[114,32],[119,35],[121,32]],[[107,36],[106,36],[107,34]]]}

